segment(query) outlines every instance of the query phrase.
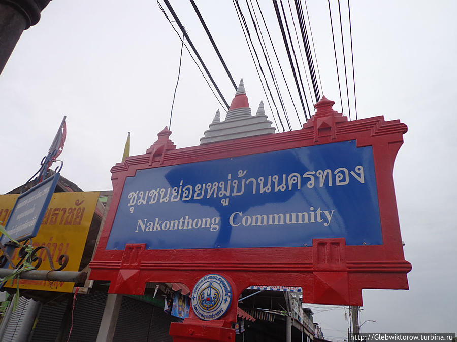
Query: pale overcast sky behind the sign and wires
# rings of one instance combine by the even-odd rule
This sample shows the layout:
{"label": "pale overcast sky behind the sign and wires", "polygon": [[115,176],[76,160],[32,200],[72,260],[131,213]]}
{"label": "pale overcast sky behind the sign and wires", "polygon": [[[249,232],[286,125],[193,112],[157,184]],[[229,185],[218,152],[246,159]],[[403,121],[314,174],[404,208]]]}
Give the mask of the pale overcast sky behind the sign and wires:
{"label": "pale overcast sky behind the sign and wires", "polygon": [[[234,88],[190,3],[171,3],[230,103]],[[331,3],[342,60],[338,5]],[[244,79],[255,112],[266,99],[232,2],[197,4],[236,82]],[[345,30],[347,2],[341,4]],[[288,65],[272,3],[262,0],[260,5],[283,65]],[[341,111],[328,4],[308,0],[307,5],[323,94]],[[454,1],[351,1],[358,117],[383,115],[409,127],[394,181],[405,258],[413,267],[410,290],[364,290],[361,322],[376,323],[367,322],[362,332],[456,330],[455,13]],[[110,168],[121,160],[127,131],[132,132],[131,155],[139,155],[169,123],[180,48],[155,1],[52,1],[38,25],[23,33],[0,75],[0,192],[21,185],[38,170],[63,115],[68,130],[60,156],[62,175],[85,191],[111,189]],[[293,79],[286,76],[292,90]],[[341,68],[340,78],[343,82]],[[283,82],[281,89],[285,94]],[[351,88],[349,93],[353,110]],[[217,109],[224,118],[184,50],[171,125],[177,147],[198,145]],[[272,120],[267,106],[266,111]],[[290,117],[293,129],[300,129],[295,114]],[[347,336],[342,307],[312,308],[325,336]],[[319,312],[325,309],[332,310]]]}

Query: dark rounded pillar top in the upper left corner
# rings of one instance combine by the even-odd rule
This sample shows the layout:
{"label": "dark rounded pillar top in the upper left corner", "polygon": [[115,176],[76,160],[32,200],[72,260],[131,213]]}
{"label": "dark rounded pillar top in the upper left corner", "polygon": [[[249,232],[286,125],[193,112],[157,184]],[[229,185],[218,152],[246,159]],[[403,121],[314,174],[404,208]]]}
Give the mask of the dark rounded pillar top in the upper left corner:
{"label": "dark rounded pillar top in the upper left corner", "polygon": [[0,0],[0,73],[22,32],[40,20],[50,0]]}

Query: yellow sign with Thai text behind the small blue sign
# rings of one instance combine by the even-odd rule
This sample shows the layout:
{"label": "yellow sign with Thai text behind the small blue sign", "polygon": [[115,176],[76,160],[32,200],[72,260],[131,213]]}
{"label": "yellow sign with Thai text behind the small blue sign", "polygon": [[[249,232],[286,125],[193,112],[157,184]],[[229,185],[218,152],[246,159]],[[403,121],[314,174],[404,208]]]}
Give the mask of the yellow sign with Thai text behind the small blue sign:
{"label": "yellow sign with Thai text behind the small blue sign", "polygon": [[[0,224],[5,225],[16,198],[19,195],[0,195]],[[46,246],[50,251],[54,268],[58,268],[58,259],[61,254],[69,256],[69,262],[63,271],[79,271],[79,264],[86,244],[92,216],[99,198],[99,192],[72,192],[54,193],[49,203],[40,230],[32,239],[32,246]],[[13,254],[13,261],[17,264],[19,249]],[[43,259],[40,270],[51,270],[49,258],[44,249],[37,255]],[[72,292],[74,283],[19,280],[19,288],[29,290],[45,290],[58,292]],[[8,281],[5,287],[16,287],[16,280]]]}

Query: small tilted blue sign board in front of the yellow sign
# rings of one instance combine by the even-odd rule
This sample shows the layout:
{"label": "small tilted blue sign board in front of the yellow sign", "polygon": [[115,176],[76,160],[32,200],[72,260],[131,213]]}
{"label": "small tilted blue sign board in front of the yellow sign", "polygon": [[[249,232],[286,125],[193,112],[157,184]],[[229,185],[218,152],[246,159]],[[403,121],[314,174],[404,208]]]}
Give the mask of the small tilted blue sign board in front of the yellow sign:
{"label": "small tilted blue sign board in front of the yellow sign", "polygon": [[[56,173],[19,195],[5,225],[5,230],[11,238],[23,241],[37,236],[59,177],[60,174]],[[9,240],[5,235],[2,236],[2,242]]]}

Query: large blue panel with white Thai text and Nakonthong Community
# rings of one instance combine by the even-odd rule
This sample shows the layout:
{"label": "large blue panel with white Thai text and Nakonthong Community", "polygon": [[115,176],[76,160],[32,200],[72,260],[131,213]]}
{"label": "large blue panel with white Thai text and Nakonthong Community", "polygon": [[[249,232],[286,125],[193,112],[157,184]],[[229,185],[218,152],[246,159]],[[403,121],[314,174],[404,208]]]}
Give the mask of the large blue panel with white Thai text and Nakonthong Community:
{"label": "large blue panel with white Thai text and Nakonthong Community", "polygon": [[382,244],[371,146],[355,140],[165,166],[127,177],[106,249]]}

